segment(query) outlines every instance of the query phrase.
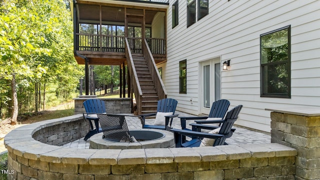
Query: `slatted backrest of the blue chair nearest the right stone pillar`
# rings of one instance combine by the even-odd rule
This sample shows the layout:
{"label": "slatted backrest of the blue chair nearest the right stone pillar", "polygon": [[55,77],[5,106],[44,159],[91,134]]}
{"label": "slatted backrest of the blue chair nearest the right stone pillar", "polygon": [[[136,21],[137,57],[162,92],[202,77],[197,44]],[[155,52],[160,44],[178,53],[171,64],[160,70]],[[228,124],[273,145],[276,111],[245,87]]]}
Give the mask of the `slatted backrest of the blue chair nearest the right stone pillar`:
{"label": "slatted backrest of the blue chair nearest the right stone pillar", "polygon": [[[232,133],[231,132],[231,127],[233,125],[233,123],[236,121],[236,119],[238,118],[238,115],[240,113],[240,110],[242,108],[242,105],[238,105],[233,107],[231,110],[229,110],[224,118],[224,122],[221,125],[219,134],[228,134],[228,133]],[[220,139],[216,139],[214,141],[213,146],[215,145],[223,145],[225,141],[225,138],[220,138]]]}

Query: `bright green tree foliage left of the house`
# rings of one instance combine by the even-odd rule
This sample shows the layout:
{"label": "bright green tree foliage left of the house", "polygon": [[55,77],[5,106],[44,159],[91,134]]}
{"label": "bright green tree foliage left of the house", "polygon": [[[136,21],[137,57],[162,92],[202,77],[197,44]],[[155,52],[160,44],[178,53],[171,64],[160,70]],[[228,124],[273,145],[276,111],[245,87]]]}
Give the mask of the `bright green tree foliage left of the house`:
{"label": "bright green tree foliage left of the house", "polygon": [[12,74],[22,111],[37,109],[50,85],[63,98],[76,88],[83,67],[73,57],[67,6],[65,0],[0,1],[1,112],[12,98]]}

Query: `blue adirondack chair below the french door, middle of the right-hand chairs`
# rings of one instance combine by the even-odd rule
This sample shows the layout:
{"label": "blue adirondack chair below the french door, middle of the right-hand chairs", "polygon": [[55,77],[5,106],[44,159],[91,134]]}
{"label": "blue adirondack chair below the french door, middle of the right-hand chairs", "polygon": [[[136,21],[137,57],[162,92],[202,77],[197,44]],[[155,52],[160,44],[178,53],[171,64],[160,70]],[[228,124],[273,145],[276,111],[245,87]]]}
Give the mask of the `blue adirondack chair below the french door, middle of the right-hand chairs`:
{"label": "blue adirondack chair below the french door, middle of the right-hand chairs", "polygon": [[[208,116],[192,116],[192,117],[180,117],[181,122],[181,129],[190,130],[186,128],[186,120],[198,120],[198,119],[207,119],[208,117],[219,117],[223,118],[226,111],[228,110],[228,107],[230,105],[230,102],[226,99],[220,99],[216,100],[212,103],[210,113]],[[214,123],[211,120],[202,120],[197,121],[198,123]]]}

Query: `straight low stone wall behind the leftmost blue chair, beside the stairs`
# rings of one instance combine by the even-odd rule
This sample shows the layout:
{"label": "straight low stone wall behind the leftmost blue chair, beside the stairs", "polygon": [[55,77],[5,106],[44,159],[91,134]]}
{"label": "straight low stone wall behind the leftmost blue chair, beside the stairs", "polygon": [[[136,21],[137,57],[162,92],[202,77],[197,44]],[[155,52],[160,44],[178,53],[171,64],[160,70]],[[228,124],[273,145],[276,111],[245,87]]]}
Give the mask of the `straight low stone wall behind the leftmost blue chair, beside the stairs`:
{"label": "straight low stone wall behind the leftmost blue chair, beside the stairs", "polygon": [[[83,107],[83,101],[89,98],[95,97],[78,97],[73,98],[74,100],[74,113],[85,112]],[[104,101],[105,109],[108,113],[131,113],[131,98],[99,98]]]}

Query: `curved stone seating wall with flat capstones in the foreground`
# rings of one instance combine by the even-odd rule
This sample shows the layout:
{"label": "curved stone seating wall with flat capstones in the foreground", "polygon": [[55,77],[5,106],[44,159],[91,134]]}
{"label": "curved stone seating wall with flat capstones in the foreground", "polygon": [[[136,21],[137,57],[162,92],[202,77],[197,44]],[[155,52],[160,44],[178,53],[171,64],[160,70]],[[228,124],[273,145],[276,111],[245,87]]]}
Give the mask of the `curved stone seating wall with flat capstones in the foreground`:
{"label": "curved stone seating wall with flat capstones in the foreground", "polygon": [[297,151],[278,143],[121,150],[40,142],[46,141],[40,138],[42,131],[46,134],[73,121],[82,124],[81,114],[9,132],[4,144],[8,169],[14,173],[8,179],[294,179]]}

